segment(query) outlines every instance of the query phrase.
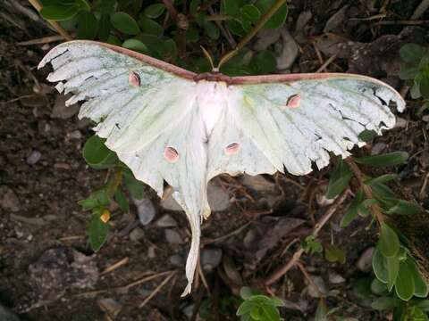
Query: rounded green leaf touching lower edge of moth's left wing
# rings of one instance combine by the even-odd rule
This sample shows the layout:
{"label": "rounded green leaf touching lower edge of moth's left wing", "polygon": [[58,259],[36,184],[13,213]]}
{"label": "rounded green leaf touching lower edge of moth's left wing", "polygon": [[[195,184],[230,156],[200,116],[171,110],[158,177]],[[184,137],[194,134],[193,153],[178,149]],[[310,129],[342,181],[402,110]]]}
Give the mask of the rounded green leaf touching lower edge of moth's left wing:
{"label": "rounded green leaf touching lower edge of moth's left wing", "polygon": [[94,169],[107,169],[116,164],[114,152],[105,147],[105,139],[91,136],[83,146],[83,158]]}

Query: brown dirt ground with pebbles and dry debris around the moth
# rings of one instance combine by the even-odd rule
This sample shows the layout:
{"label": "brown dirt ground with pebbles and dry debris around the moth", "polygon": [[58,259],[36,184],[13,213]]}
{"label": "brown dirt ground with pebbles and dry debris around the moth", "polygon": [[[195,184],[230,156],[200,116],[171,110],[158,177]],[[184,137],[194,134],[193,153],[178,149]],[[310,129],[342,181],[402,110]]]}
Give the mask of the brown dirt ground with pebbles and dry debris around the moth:
{"label": "brown dirt ground with pebbles and dry debris around the moth", "polygon": [[[414,26],[398,21],[408,20],[420,1],[383,1],[384,8],[373,1],[356,3],[292,1],[287,26],[299,52],[290,70],[315,71],[335,56],[327,70],[381,78],[407,93],[397,77],[398,50],[408,42],[425,42],[427,21]],[[218,178],[231,205],[203,224],[205,280],[198,277],[197,289],[186,298],[180,294],[188,222],[180,211],[166,210],[149,189],[146,197],[156,217],[143,226],[135,206],[127,215],[115,210],[110,237],[94,254],[86,232],[89,213],[77,202],[103,185],[106,173],[88,169],[82,159],[82,146],[91,135],[88,121],[77,119],[76,110],[64,110],[62,98],[45,80],[48,70],[37,70],[41,57],[57,43],[20,44],[54,35],[41,21],[32,21],[36,18],[22,5],[0,4],[0,303],[21,320],[196,320],[198,308],[200,319],[237,319],[240,286],[257,286],[286,264],[299,246],[294,240],[308,235],[328,209],[323,195],[330,169],[305,177]],[[309,19],[299,27],[297,21],[306,19],[303,12]],[[385,13],[383,19],[362,20],[379,13]],[[426,13],[420,19],[427,18]],[[394,187],[427,209],[429,197],[422,185],[429,171],[428,123],[416,116],[419,106],[408,101],[397,128],[354,153],[408,152],[408,165],[394,169],[400,175]],[[363,253],[374,245],[375,231],[369,218],[341,229],[348,203],[337,209],[319,237],[344,249],[346,263],[329,263],[321,254],[304,255],[302,263],[322,279],[321,288],[336,291],[328,303],[339,308],[339,315],[387,320],[388,315],[369,308],[371,296],[357,291],[357,280],[371,276],[371,268],[357,262],[368,262]],[[166,227],[156,223],[165,214],[177,223],[168,229],[180,236],[178,242],[167,240]],[[298,269],[272,290],[288,302],[288,309],[282,309],[285,320],[314,317],[318,300]]]}

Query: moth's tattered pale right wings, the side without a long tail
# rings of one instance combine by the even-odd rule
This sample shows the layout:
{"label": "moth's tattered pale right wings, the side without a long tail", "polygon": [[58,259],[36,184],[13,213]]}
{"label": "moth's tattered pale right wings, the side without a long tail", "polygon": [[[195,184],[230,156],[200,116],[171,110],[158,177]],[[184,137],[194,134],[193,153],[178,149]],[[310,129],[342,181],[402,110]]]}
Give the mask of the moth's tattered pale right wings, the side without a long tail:
{"label": "moth's tattered pale right wings, the side without a long tail", "polygon": [[[405,107],[393,88],[357,75],[232,79],[235,84],[229,86],[224,119],[229,123],[226,132],[233,133],[233,138],[222,137],[219,128],[225,123],[215,125],[208,177],[231,171],[272,173],[273,168],[307,174],[312,161],[319,169],[326,166],[329,152],[347,157],[355,144],[365,144],[359,139],[365,129],[381,134],[382,129],[392,128],[395,116],[389,103],[396,104],[399,111]],[[288,100],[294,95],[300,97],[299,107],[290,108]],[[231,143],[242,144],[241,154],[222,152]]]}

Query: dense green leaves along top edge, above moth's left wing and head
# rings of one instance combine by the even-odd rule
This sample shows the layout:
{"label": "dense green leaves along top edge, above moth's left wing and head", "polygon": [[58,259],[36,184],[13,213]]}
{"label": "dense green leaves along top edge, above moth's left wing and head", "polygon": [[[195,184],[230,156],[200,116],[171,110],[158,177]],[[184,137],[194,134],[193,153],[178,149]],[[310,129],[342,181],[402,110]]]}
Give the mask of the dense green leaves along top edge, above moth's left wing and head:
{"label": "dense green leaves along top edge, above moth's left wing and head", "polygon": [[[80,39],[120,45],[188,70],[206,72],[211,70],[211,66],[199,45],[210,48],[219,58],[228,49],[223,45],[224,35],[235,36],[237,39],[232,41],[238,42],[257,25],[275,0],[257,0],[254,3],[222,0],[220,4],[192,0],[189,3],[173,3],[176,17],[172,17],[165,5],[159,2],[144,5],[138,0],[41,2],[43,8],[40,13],[46,20],[60,21],[63,28],[75,31]],[[209,8],[219,13],[211,14]],[[281,28],[287,14],[288,6],[283,4],[265,23],[264,29]],[[225,29],[224,33],[222,29]],[[232,61],[226,62],[221,71],[230,76],[266,74],[273,72],[275,67],[272,52],[254,53],[245,47]]]}

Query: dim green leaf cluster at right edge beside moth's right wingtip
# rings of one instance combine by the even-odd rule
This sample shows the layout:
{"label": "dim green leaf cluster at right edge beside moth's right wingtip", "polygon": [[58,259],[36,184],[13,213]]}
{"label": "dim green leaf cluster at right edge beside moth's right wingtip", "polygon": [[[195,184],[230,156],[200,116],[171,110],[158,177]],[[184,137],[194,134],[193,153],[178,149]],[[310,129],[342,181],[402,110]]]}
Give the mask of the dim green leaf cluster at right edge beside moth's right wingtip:
{"label": "dim green leaf cluster at right edge beside moth's right wingtip", "polygon": [[410,95],[413,99],[429,99],[429,51],[425,46],[403,45],[400,57],[405,62],[400,69],[400,78],[412,80]]}

